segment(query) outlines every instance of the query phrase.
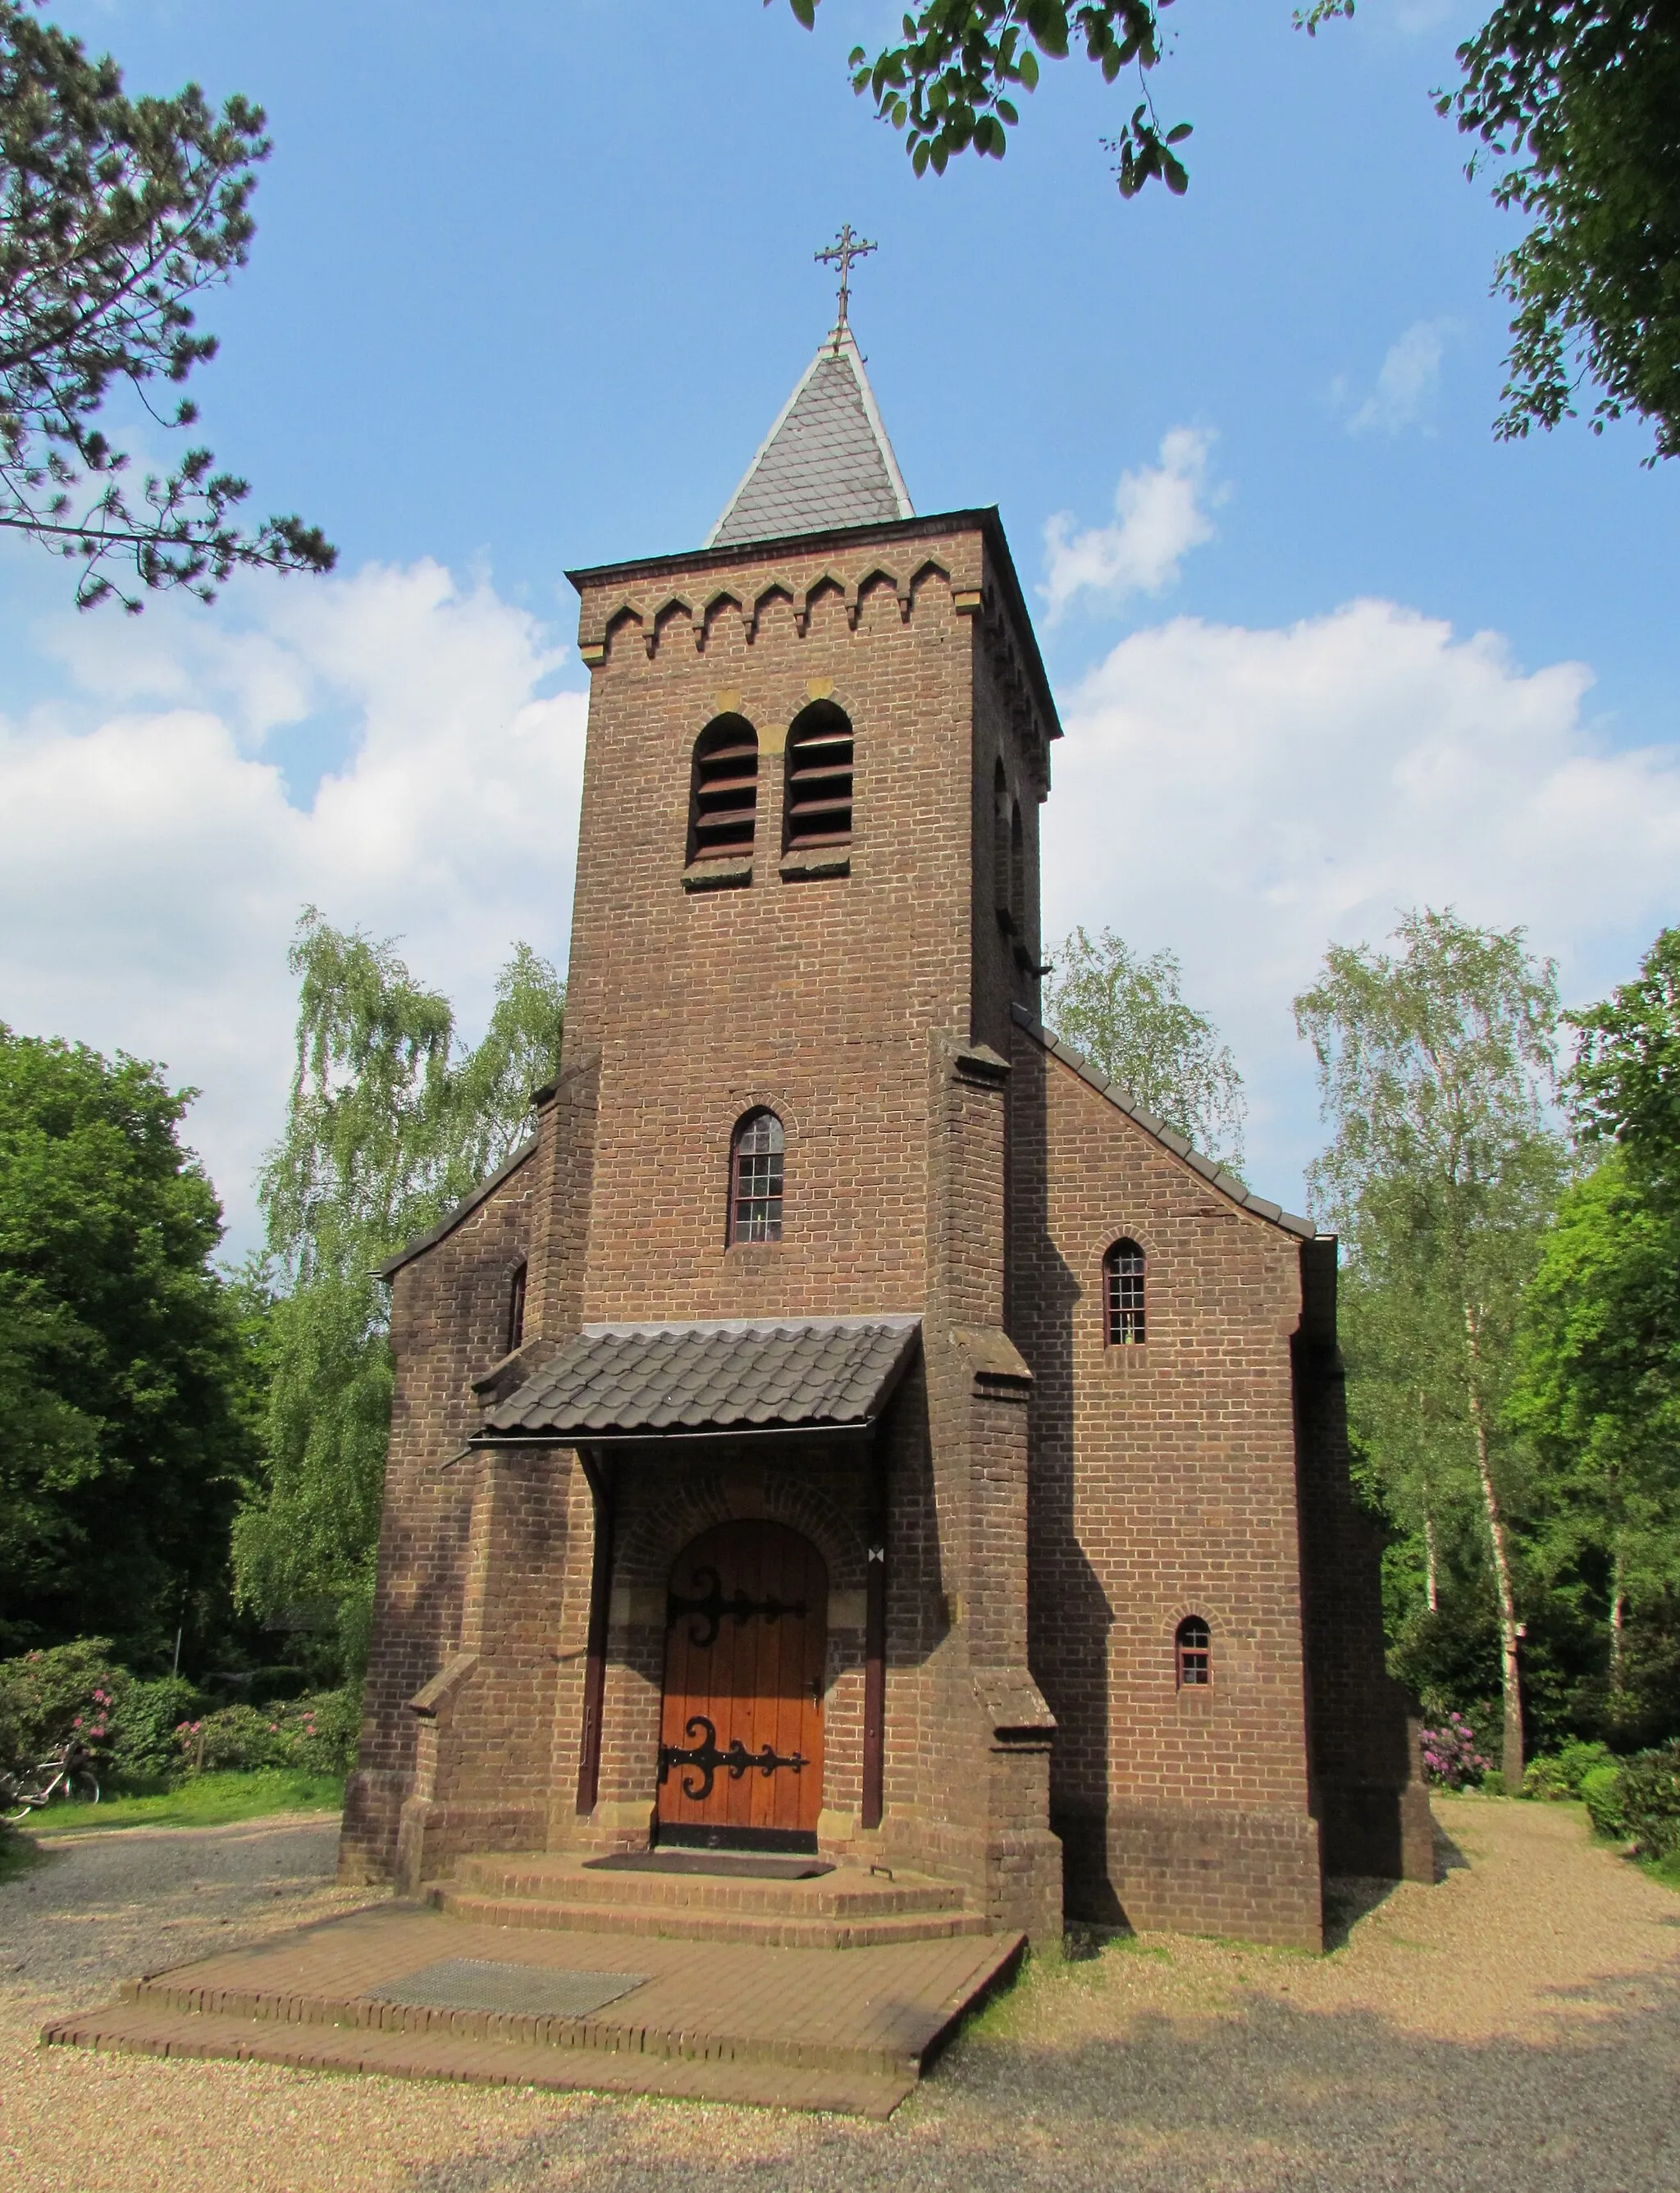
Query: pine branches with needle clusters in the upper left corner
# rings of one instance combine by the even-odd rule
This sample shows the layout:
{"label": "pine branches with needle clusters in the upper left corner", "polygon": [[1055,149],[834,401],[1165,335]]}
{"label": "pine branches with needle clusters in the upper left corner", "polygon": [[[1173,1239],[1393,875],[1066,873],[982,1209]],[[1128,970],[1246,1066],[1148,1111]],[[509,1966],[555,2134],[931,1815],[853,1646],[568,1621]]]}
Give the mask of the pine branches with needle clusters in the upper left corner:
{"label": "pine branches with needle clusters in the upper left corner", "polygon": [[215,355],[193,300],[243,265],[268,151],[250,101],[127,99],[110,57],[0,0],[0,526],[77,559],[81,607],[333,564],[296,515],[241,526],[248,485],[204,447],[136,491],[94,423],[125,382],[160,425],[193,425],[186,397],[162,414],[151,395]]}

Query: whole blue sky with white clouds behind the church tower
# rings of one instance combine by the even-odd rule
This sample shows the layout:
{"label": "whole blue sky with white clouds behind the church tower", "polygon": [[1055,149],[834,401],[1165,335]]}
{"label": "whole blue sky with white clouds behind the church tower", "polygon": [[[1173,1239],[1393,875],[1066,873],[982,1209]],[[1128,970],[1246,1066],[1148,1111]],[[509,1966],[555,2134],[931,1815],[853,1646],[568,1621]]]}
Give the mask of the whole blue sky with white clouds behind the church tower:
{"label": "whole blue sky with white clouds behind the church tower", "polygon": [[[1180,952],[1257,1186],[1296,1200],[1318,1140],[1287,998],[1329,934],[1452,897],[1579,998],[1673,919],[1680,469],[1638,425],[1491,436],[1516,230],[1428,99],[1480,9],[1309,42],[1180,0],[1191,191],[1134,204],[1099,143],[1134,92],[1083,61],[1004,162],[917,182],[844,70],[893,7],[50,13],[132,88],[268,107],[204,436],[342,553],[140,621],[0,555],[0,1018],[200,1083],[239,1241],[303,895],[401,932],[467,1026],[515,934],[564,958],[564,568],[704,537],[829,322],[840,219],[882,246],[855,325],[917,507],[998,502],[1040,590],[1051,932]],[[456,789],[428,816],[415,779]]]}

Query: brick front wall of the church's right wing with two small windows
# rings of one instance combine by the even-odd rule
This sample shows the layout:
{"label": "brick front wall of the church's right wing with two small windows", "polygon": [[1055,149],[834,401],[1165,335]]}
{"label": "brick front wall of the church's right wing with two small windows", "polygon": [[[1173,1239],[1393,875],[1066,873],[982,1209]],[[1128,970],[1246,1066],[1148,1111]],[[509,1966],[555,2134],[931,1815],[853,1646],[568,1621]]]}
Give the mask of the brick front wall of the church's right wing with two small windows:
{"label": "brick front wall of the church's right wing with two small windows", "polygon": [[[1316,1943],[1290,1338],[1298,1243],[1015,1035],[1011,1331],[1035,1375],[1033,1669],[1068,1908]],[[1147,1259],[1110,1347],[1103,1254]],[[1213,1682],[1178,1686],[1195,1614]]]}

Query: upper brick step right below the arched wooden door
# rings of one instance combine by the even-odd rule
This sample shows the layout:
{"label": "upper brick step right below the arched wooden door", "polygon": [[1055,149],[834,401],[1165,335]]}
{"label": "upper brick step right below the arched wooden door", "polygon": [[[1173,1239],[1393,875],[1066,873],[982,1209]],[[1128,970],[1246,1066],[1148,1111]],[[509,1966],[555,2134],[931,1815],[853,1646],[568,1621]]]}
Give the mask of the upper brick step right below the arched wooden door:
{"label": "upper brick step right below the arched wooden door", "polygon": [[928,1875],[866,1873],[836,1866],[807,1882],[754,1882],[719,1873],[618,1873],[566,1855],[463,1857],[452,1882],[439,1884],[461,1895],[515,1897],[537,1904],[612,1904],[623,1910],[752,1912],[785,1919],[886,1919],[901,1912],[961,1912],[963,1890]]}

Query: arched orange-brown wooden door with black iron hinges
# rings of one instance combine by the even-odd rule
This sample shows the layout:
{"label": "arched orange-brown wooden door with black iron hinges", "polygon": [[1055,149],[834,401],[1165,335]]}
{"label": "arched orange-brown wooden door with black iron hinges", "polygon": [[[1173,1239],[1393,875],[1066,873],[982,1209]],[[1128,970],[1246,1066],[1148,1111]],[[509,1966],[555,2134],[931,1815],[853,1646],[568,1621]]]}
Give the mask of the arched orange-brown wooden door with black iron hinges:
{"label": "arched orange-brown wooden door with black iron hinges", "polygon": [[665,1629],[660,1842],[816,1849],[829,1572],[798,1531],[724,1522],[678,1555]]}

